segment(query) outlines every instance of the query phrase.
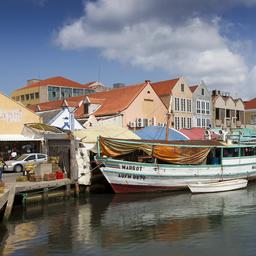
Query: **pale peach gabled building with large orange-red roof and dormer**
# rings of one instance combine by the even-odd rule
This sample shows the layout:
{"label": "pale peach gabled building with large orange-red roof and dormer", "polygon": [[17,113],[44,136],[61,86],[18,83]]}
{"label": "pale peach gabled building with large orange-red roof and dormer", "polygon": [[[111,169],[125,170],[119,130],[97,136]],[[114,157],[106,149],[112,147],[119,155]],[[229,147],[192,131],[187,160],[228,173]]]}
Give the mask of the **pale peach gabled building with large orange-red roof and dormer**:
{"label": "pale peach gabled building with large orange-red roof and dormer", "polygon": [[106,92],[87,95],[80,120],[94,115],[98,122],[117,124],[130,129],[166,122],[167,108],[150,81]]}

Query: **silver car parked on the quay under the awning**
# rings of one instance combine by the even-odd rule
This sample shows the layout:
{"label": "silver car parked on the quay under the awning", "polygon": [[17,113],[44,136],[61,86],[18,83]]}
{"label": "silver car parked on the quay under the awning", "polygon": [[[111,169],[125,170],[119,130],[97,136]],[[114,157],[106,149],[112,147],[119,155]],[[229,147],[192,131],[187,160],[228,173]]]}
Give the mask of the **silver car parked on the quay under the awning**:
{"label": "silver car parked on the quay under the awning", "polygon": [[23,154],[16,159],[5,161],[5,171],[22,172],[27,163],[46,163],[48,156],[41,153]]}

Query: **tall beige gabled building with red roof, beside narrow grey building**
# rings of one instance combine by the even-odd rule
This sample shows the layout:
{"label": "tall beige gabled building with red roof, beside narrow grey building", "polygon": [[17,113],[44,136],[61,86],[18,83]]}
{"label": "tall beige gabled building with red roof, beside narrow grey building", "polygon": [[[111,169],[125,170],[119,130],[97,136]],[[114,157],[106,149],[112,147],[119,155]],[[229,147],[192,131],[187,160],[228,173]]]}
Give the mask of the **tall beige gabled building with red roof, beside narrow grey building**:
{"label": "tall beige gabled building with red roof, beside narrow grey building", "polygon": [[170,127],[191,128],[193,94],[184,78],[152,83],[152,87],[171,113]]}

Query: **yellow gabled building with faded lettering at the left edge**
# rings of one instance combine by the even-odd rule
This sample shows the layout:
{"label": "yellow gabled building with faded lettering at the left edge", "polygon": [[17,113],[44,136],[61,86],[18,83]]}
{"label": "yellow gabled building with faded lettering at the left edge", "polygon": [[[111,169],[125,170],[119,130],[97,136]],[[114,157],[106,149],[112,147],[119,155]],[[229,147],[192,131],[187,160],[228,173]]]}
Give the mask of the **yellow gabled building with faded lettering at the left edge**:
{"label": "yellow gabled building with faded lettering at the left edge", "polygon": [[23,136],[22,130],[25,123],[40,122],[38,115],[0,93],[0,154],[8,159],[13,149],[20,153],[39,149],[39,141]]}

